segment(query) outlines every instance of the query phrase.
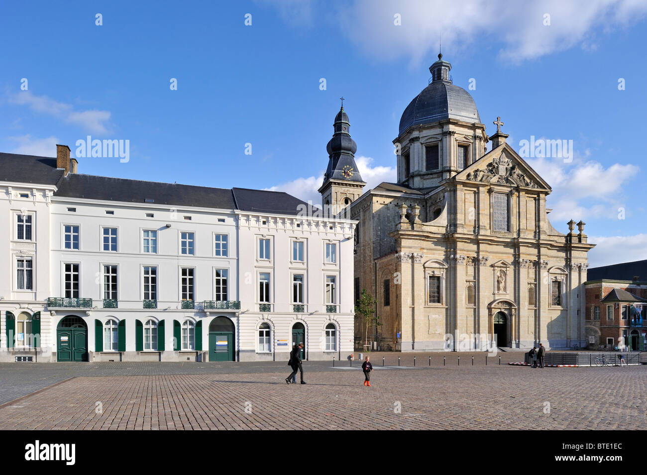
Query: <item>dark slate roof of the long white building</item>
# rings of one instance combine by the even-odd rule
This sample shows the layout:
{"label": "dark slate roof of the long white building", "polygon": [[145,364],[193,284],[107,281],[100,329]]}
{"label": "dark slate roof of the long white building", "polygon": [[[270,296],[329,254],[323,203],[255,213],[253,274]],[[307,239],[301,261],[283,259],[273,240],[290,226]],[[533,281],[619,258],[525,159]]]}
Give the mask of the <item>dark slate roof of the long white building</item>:
{"label": "dark slate roof of the long white building", "polygon": [[[56,158],[0,153],[0,181],[56,185],[54,196],[164,206],[239,209],[296,215],[306,202],[282,191],[212,188],[68,173],[56,169]],[[152,200],[152,201],[151,201]],[[300,207],[301,206],[301,207]]]}

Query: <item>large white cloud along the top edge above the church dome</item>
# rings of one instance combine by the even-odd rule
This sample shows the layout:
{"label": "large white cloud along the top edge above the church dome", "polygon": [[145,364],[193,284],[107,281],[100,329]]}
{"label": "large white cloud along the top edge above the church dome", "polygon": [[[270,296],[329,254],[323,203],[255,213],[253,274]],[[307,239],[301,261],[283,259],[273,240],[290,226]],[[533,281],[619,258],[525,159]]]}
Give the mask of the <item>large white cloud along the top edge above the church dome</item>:
{"label": "large white cloud along the top edge above the church dome", "polygon": [[[400,26],[394,24],[396,14]],[[636,0],[356,0],[338,17],[342,31],[367,54],[419,63],[437,52],[439,35],[452,52],[477,42],[500,44],[499,58],[513,62],[576,46],[593,50],[597,30],[608,33],[646,14],[647,3]]]}

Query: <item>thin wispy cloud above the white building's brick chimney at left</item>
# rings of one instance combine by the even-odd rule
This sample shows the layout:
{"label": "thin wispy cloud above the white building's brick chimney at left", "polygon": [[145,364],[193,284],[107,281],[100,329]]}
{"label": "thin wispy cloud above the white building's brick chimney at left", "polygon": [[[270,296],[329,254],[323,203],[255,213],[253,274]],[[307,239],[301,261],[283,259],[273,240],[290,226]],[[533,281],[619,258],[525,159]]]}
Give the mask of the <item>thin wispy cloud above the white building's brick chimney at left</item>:
{"label": "thin wispy cloud above the white building's brick chimney at left", "polygon": [[35,96],[29,90],[13,94],[10,96],[9,101],[17,105],[27,105],[32,111],[74,123],[91,133],[105,134],[109,132],[107,121],[110,119],[111,114],[108,111],[74,111],[71,104],[59,102],[47,96]]}

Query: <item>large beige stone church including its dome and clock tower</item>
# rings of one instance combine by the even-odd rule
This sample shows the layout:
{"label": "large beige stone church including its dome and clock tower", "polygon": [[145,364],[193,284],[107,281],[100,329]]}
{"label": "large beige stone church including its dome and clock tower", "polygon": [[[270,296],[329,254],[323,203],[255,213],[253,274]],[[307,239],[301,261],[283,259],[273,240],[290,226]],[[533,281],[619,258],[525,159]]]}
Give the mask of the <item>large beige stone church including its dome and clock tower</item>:
{"label": "large beige stone church including its dome and clock tower", "polygon": [[[566,234],[551,225],[551,187],[506,143],[500,119],[487,136],[450,69],[439,55],[432,82],[402,114],[397,183],[357,196],[355,142],[348,135],[353,147],[341,151],[345,175],[329,150],[324,206],[359,221],[355,295],[366,288],[377,297],[382,325],[368,339],[402,351],[584,346],[594,246],[584,222],[571,220]],[[361,347],[357,321],[355,335]]]}

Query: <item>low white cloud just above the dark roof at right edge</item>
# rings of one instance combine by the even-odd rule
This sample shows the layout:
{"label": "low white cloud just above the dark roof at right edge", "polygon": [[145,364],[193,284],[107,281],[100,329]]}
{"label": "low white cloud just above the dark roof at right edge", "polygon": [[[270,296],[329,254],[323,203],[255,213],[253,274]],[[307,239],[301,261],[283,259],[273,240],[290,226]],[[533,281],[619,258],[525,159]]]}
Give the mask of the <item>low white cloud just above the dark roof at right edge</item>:
{"label": "low white cloud just above the dark roof at right edge", "polygon": [[633,236],[589,236],[595,248],[588,253],[589,267],[647,259],[647,234]]}

